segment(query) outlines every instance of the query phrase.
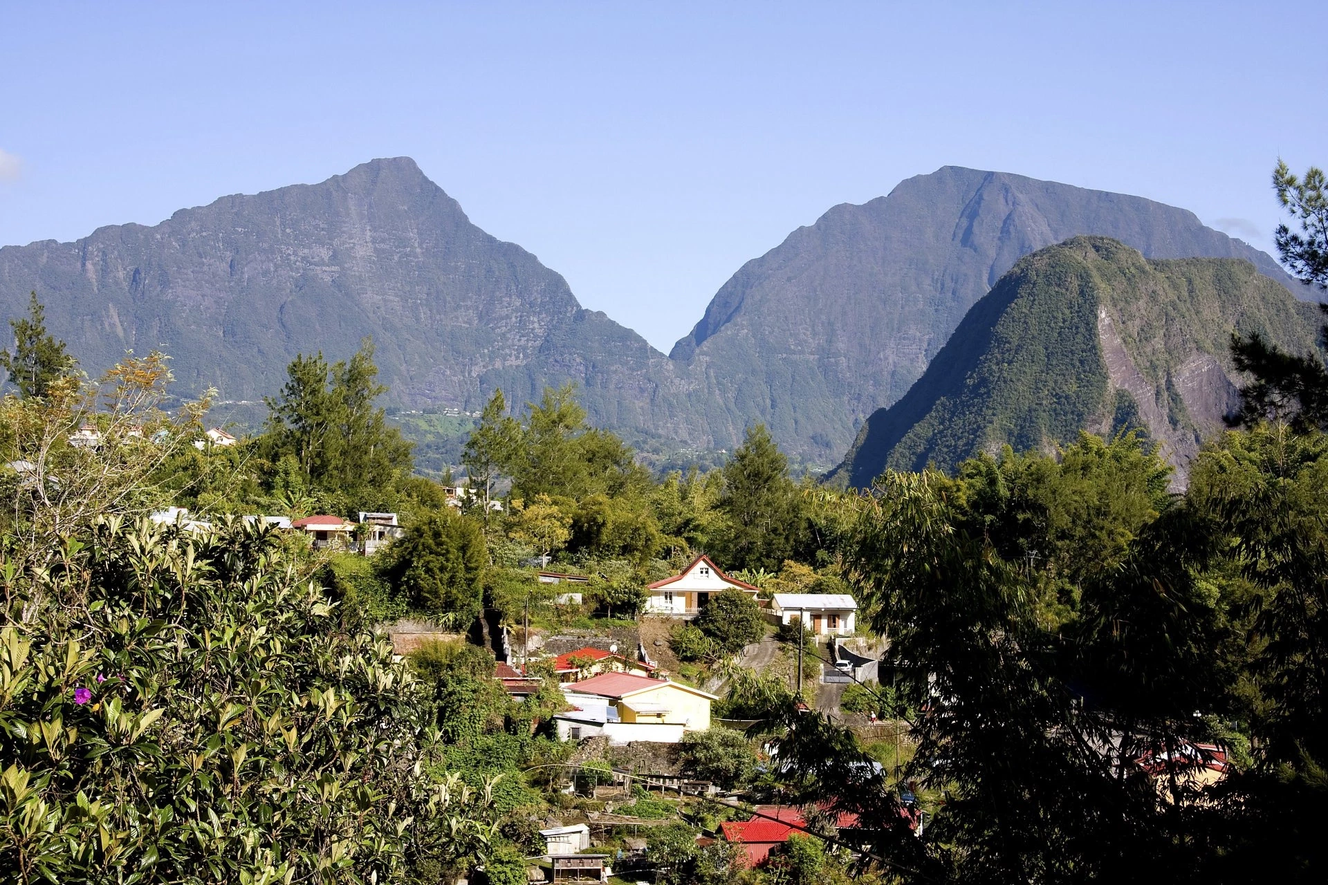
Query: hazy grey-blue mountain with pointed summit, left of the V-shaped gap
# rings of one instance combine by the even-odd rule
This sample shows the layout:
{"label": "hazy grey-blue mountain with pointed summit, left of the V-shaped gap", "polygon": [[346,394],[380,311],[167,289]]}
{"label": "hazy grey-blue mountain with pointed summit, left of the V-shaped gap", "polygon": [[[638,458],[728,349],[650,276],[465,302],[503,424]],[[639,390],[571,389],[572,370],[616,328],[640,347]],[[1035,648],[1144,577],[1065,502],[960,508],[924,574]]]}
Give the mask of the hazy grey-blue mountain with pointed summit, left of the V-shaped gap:
{"label": "hazy grey-blue mountain with pointed summit, left of the V-shaped gap", "polygon": [[372,334],[400,405],[478,410],[497,386],[521,403],[575,381],[604,426],[684,414],[664,354],[582,309],[562,276],[471,224],[409,158],[0,249],[7,316],[29,291],[88,372],[162,349],[186,391],[223,399],[272,394],[296,353],[343,358]]}

